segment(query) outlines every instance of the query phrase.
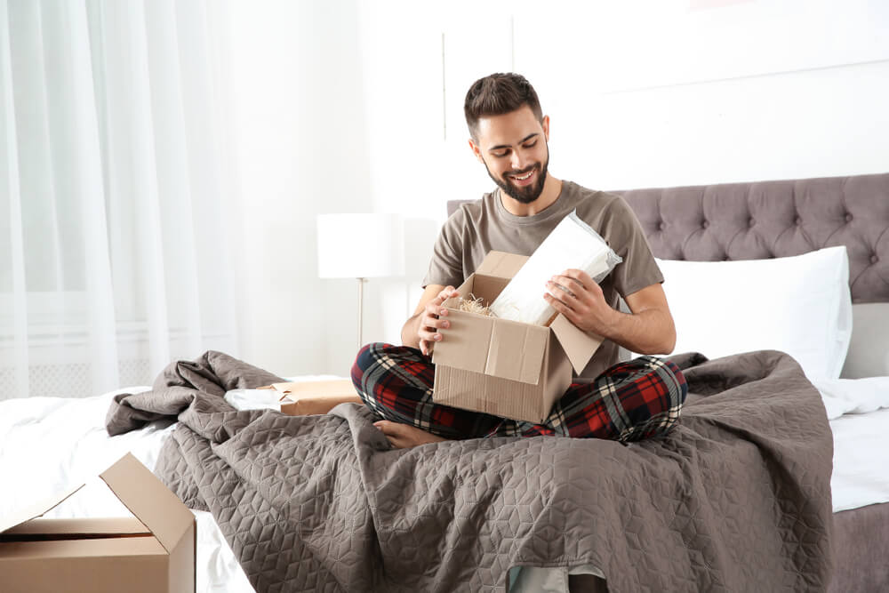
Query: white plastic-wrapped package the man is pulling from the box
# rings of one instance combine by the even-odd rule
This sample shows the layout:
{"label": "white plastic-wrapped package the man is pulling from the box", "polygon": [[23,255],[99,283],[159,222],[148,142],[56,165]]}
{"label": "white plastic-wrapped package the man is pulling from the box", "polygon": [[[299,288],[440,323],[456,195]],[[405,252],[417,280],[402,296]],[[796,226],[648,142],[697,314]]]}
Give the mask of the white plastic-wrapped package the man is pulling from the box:
{"label": "white plastic-wrapped package the man is pulling from the box", "polygon": [[553,228],[491,304],[501,319],[547,325],[556,309],[543,299],[546,282],[566,269],[582,269],[597,283],[622,259],[573,211]]}

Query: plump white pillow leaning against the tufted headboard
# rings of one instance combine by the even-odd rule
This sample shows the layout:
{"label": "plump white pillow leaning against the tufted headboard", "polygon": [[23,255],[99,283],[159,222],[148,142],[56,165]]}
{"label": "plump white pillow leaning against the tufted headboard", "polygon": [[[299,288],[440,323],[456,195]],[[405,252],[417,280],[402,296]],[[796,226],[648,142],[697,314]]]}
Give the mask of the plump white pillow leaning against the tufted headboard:
{"label": "plump white pillow leaning against the tufted headboard", "polygon": [[657,260],[676,322],[673,351],[787,352],[810,379],[837,379],[852,337],[845,246],[772,260]]}

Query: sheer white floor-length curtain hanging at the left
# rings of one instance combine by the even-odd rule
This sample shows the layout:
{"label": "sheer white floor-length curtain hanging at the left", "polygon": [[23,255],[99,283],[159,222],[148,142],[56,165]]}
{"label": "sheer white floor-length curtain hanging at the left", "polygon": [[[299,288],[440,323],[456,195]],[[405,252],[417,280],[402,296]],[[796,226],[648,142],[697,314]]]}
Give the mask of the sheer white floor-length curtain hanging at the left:
{"label": "sheer white floor-length curtain hanging at the left", "polygon": [[215,0],[0,0],[0,399],[237,355]]}

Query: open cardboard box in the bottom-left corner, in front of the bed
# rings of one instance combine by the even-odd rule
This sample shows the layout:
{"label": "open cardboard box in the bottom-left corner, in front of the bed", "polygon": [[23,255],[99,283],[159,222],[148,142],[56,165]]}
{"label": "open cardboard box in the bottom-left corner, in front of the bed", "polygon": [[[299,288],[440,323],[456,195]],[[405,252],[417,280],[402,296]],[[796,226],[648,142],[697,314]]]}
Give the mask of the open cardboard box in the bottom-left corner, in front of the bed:
{"label": "open cardboard box in the bottom-left corner, in front of the bed", "polygon": [[100,477],[134,517],[39,518],[84,485],[3,517],[0,590],[195,590],[191,511],[131,453]]}

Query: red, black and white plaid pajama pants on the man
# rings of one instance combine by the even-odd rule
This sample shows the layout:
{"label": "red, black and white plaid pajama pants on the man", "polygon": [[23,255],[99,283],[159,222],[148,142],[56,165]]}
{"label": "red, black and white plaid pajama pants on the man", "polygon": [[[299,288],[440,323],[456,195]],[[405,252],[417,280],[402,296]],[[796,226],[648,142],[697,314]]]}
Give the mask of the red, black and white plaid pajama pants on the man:
{"label": "red, black and white plaid pajama pants on the man", "polygon": [[352,365],[358,395],[381,420],[439,437],[560,437],[637,441],[666,434],[679,419],[687,386],[677,365],[638,357],[607,369],[592,383],[573,383],[542,424],[461,410],[432,401],[435,365],[419,349],[372,343]]}

